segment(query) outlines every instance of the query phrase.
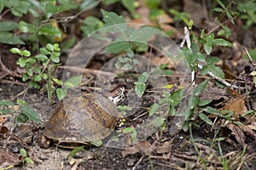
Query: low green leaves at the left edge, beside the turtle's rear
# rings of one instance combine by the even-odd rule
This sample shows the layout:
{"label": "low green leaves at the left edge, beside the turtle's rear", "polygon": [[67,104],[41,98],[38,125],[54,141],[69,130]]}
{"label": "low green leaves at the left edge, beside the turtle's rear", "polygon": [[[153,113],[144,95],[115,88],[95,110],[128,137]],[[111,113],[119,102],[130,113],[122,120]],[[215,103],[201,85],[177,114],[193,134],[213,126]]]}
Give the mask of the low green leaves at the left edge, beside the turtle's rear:
{"label": "low green leaves at the left edge, beside the turtle's rear", "polygon": [[[7,115],[7,114],[18,113],[18,115],[16,116],[16,119],[15,119],[17,124],[25,123],[28,120],[32,120],[33,122],[41,123],[38,113],[36,111],[34,111],[31,107],[26,105],[26,102],[24,100],[17,99],[17,104],[19,105],[19,110],[9,109],[9,108],[1,109],[0,114]],[[15,104],[9,100],[0,100],[0,106],[1,105],[9,106],[10,108],[15,106]]]}

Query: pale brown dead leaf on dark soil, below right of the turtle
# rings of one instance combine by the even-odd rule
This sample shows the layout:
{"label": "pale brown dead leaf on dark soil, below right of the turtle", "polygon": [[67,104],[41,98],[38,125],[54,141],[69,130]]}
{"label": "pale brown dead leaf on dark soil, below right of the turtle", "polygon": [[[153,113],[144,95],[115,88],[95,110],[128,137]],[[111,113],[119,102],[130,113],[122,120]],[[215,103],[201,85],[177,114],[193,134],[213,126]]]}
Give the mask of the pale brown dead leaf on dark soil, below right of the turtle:
{"label": "pale brown dead leaf on dark soil, below right of the turtle", "polygon": [[122,156],[129,156],[129,155],[134,155],[137,153],[143,154],[143,155],[150,155],[152,153],[152,148],[151,144],[148,141],[142,141],[137,143],[134,146],[125,148],[124,150],[121,151]]}

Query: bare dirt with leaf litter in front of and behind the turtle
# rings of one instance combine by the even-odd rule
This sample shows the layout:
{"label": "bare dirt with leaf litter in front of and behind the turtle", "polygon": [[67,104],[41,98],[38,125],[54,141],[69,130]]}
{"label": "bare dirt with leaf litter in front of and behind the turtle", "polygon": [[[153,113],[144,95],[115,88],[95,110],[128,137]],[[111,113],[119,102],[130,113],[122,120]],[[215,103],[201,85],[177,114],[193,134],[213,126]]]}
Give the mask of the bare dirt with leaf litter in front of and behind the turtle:
{"label": "bare dirt with leaf litter in front of and behind the turtle", "polygon": [[[0,83],[2,89],[0,99],[11,99],[25,89],[15,83],[3,81]],[[67,155],[71,150],[56,148],[42,149],[38,146],[38,137],[42,133],[45,123],[48,122],[49,116],[52,114],[55,105],[49,105],[47,94],[29,89],[24,97],[27,104],[31,106],[38,114],[43,122],[42,125],[28,122],[24,125],[15,126],[14,132],[9,139],[1,139],[0,146],[3,150],[8,150],[12,156],[20,156],[20,148],[25,148],[28,156],[32,157],[34,164],[26,163],[24,169],[199,169],[199,161],[195,152],[194,144],[191,143],[189,133],[180,131],[175,135],[170,134],[170,125],[166,125],[166,129],[160,134],[156,132],[148,139],[142,142],[141,146],[135,148],[113,148],[113,147],[87,147],[73,156],[76,163],[70,165]],[[129,122],[128,124],[136,126],[137,122]],[[159,136],[160,135],[160,136]],[[201,156],[207,156],[209,144],[207,141],[213,139],[214,131],[205,123],[201,123],[200,127],[193,127],[193,137],[198,139],[197,146],[201,151]],[[7,144],[7,145],[5,145]],[[148,145],[149,144],[149,145]],[[234,145],[222,141],[221,147],[223,154],[235,154],[243,148],[234,142]],[[217,147],[217,146],[216,146]],[[215,148],[216,148],[215,147]],[[246,152],[249,157],[256,152],[256,146],[253,140],[247,140],[249,151]],[[129,148],[131,151],[124,151]],[[149,151],[148,148],[150,148]],[[216,151],[216,150],[215,150]],[[218,152],[215,153],[219,155]],[[20,160],[20,158],[18,159]],[[9,165],[13,165],[9,163]],[[256,160],[248,160],[247,167],[242,169],[255,169]],[[16,166],[12,169],[20,169],[21,162],[16,162]],[[207,162],[207,168],[222,169],[217,160],[211,158]]]}

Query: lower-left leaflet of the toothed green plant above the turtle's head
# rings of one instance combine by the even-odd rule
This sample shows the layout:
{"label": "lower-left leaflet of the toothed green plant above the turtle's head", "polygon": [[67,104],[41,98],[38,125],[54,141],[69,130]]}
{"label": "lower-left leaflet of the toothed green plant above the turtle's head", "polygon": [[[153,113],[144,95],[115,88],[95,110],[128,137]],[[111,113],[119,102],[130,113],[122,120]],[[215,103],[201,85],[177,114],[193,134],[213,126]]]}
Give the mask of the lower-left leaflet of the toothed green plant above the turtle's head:
{"label": "lower-left leaflet of the toothed green plant above the turtle's head", "polygon": [[118,54],[121,51],[126,51],[131,49],[131,43],[130,42],[113,42],[108,44],[108,46],[102,51],[103,53],[113,53]]}

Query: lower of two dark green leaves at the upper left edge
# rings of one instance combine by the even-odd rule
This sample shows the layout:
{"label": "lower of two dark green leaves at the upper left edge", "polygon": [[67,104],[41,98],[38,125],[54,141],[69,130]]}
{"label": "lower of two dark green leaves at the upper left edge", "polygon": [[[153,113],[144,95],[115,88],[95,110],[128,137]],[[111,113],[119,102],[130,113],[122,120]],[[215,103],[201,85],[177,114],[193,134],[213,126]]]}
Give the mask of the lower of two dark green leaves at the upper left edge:
{"label": "lower of two dark green leaves at the upper left edge", "polygon": [[0,42],[7,44],[25,44],[20,37],[9,32],[0,32]]}

